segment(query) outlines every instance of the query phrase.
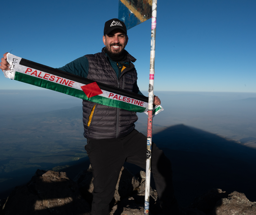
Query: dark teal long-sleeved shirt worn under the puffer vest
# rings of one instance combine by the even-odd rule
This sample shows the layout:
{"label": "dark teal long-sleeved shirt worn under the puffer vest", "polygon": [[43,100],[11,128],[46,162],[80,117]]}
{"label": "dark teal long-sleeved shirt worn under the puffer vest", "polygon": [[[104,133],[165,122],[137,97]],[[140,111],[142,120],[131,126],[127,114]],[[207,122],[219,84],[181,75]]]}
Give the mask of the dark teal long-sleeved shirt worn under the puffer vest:
{"label": "dark teal long-sleeved shirt worn under the puffer vest", "polygon": [[[115,70],[116,76],[119,77],[119,68],[117,66],[117,63],[114,60],[110,59],[110,64],[111,64],[112,68]],[[88,71],[89,71],[89,62],[88,62],[87,57],[82,56],[82,57],[79,57],[76,60],[73,60],[72,62],[70,62],[70,63],[66,64],[65,66],[58,68],[58,69],[60,69],[64,72],[67,72],[67,73],[71,73],[74,75],[78,75],[80,77],[87,78]],[[143,95],[141,93],[141,91],[139,90],[137,81],[133,84],[132,92],[137,93],[139,95]]]}

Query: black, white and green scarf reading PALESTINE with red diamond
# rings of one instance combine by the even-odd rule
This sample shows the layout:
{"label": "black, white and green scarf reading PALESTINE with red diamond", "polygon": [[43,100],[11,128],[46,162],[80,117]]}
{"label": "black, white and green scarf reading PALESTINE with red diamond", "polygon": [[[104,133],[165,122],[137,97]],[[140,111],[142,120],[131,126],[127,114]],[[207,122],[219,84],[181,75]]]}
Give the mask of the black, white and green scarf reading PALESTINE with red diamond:
{"label": "black, white and green scarf reading PALESTINE with red diamond", "polygon": [[[19,82],[55,90],[80,99],[98,104],[118,107],[133,112],[148,111],[148,98],[113,86],[94,82],[24,58],[7,54],[10,70],[4,70],[4,76]],[[154,115],[163,107],[155,106]]]}

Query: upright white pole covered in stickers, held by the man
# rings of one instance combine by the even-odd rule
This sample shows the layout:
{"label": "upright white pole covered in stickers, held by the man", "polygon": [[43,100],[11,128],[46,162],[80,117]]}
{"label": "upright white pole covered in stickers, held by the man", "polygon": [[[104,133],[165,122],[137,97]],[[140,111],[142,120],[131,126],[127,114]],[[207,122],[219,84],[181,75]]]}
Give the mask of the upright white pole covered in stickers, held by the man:
{"label": "upright white pole covered in stickers, held by the man", "polygon": [[151,19],[151,50],[150,50],[150,80],[149,80],[149,106],[148,106],[148,131],[147,131],[147,154],[146,154],[146,189],[145,189],[145,211],[149,214],[150,199],[150,172],[151,172],[151,146],[152,146],[152,119],[154,102],[154,50],[155,50],[155,31],[156,31],[156,7],[157,0],[152,2]]}

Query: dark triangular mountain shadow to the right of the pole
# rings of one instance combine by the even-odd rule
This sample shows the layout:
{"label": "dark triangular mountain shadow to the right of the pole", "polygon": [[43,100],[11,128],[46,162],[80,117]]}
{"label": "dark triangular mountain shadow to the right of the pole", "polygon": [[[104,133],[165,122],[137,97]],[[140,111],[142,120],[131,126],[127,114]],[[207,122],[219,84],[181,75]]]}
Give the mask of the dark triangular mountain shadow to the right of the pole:
{"label": "dark triangular mountain shadow to the right of the pole", "polygon": [[153,135],[172,162],[173,185],[181,206],[212,188],[245,193],[256,201],[256,150],[212,133],[175,125]]}

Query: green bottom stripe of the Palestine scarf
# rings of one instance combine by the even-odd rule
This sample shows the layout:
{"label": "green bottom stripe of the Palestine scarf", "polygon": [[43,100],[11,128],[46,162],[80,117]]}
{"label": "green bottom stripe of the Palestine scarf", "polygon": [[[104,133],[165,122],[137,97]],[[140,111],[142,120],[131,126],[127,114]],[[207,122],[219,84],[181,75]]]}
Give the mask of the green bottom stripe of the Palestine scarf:
{"label": "green bottom stripe of the Palestine scarf", "polygon": [[[133,112],[144,112],[146,110],[146,107],[140,107],[134,104],[129,104],[123,101],[115,100],[115,99],[109,99],[106,97],[102,97],[100,95],[93,96],[88,99],[88,97],[85,95],[84,91],[77,90],[75,88],[71,88],[69,86],[64,86],[55,82],[50,82],[38,77],[33,77],[30,75],[26,75],[24,73],[19,73],[16,71],[14,80],[19,81],[19,82],[24,82],[27,84],[43,87],[49,90],[55,90],[60,93],[64,93],[67,95],[71,95],[74,97],[77,97],[79,99],[84,99],[88,100],[90,102],[95,102],[99,103],[102,105],[110,106],[110,107],[119,107],[128,111],[133,111]],[[161,109],[160,107],[157,109]]]}

